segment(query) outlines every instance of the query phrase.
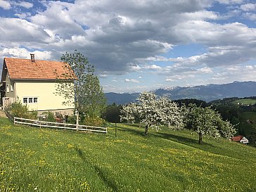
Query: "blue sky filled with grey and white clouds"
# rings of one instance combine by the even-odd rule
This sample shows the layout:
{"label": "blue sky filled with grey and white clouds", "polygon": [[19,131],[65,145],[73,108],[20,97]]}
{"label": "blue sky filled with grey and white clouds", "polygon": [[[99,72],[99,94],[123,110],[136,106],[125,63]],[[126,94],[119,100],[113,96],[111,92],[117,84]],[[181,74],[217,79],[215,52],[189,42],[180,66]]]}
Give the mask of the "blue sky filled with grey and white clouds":
{"label": "blue sky filled with grey and white clouds", "polygon": [[75,49],[105,92],[256,81],[255,0],[0,0],[4,57]]}

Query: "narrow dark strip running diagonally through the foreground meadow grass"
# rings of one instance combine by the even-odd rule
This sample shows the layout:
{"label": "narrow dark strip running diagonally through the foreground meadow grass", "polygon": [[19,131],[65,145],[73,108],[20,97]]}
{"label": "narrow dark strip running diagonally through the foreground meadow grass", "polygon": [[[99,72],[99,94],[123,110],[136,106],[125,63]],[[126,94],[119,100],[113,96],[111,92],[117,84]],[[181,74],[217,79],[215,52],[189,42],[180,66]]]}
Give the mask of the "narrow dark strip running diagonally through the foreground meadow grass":
{"label": "narrow dark strip running diagonally through the foreground meadow grass", "polygon": [[96,174],[98,177],[103,181],[103,183],[108,186],[109,188],[112,188],[113,191],[118,191],[117,185],[113,181],[113,179],[108,178],[108,174],[98,165],[93,165],[89,160],[87,160],[86,156],[84,155],[83,151],[80,148],[75,148],[75,151],[77,151],[79,157],[84,161],[87,162],[87,164],[91,165],[91,167],[94,168]]}

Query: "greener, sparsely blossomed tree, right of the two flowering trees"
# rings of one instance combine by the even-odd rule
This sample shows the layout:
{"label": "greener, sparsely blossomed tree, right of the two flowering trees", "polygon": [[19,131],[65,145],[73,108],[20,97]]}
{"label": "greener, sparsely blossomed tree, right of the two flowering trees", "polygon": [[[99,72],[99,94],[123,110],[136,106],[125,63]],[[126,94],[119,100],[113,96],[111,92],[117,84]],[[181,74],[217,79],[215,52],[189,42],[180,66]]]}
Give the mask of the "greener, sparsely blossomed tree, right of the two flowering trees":
{"label": "greener, sparsely blossomed tree, right of the two flowering trees", "polygon": [[203,136],[214,138],[224,136],[226,139],[230,139],[233,134],[236,134],[233,125],[222,120],[219,113],[210,107],[201,108],[197,107],[196,104],[189,105],[185,122],[187,129],[192,129],[198,133],[199,144],[203,143]]}

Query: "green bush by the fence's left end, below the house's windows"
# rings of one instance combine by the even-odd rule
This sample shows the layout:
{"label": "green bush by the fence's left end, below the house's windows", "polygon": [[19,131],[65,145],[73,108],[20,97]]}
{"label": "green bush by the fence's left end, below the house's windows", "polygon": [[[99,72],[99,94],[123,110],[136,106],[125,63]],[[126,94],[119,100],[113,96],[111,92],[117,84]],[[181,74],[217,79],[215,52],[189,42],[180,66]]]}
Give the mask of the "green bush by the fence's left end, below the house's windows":
{"label": "green bush by the fence's left end, below the house's windows", "polygon": [[37,120],[38,116],[37,110],[30,110],[27,105],[23,105],[20,101],[9,103],[5,110],[13,117]]}

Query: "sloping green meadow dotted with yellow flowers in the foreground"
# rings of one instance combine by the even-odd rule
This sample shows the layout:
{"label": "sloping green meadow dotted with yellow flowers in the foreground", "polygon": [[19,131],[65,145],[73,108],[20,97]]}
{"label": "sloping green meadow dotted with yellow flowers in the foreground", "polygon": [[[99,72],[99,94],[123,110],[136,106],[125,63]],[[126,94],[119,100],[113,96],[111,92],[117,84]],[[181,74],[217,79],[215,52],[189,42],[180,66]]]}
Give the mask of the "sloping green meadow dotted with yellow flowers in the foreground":
{"label": "sloping green meadow dotted with yellow flowers in the foreground", "polygon": [[108,134],[0,119],[0,191],[256,191],[256,148],[118,124]]}

